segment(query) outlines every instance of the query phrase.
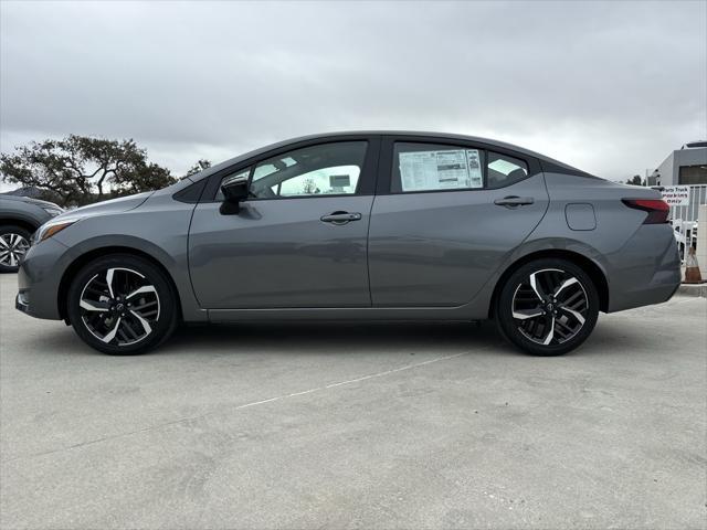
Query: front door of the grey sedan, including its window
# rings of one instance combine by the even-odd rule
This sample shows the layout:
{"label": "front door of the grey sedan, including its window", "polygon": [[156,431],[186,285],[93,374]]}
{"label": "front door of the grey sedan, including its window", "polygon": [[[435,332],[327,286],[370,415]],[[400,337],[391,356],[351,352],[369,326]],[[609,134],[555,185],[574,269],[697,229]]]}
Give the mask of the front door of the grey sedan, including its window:
{"label": "front door of the grey sedan, including its window", "polygon": [[189,266],[200,305],[370,306],[367,236],[372,194],[366,192],[366,182],[374,176],[373,141],[308,146],[240,169],[250,174],[252,198],[241,203],[238,214],[220,212],[221,197],[198,204],[189,233]]}

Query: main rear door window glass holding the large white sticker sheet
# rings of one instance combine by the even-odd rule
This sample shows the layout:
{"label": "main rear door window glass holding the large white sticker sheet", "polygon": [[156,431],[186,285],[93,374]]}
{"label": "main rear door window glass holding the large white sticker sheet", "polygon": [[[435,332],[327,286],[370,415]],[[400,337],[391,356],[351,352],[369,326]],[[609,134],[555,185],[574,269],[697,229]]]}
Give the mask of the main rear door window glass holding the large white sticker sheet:
{"label": "main rear door window glass holding the large white sticker sheet", "polygon": [[390,191],[411,193],[483,188],[483,159],[481,149],[397,142]]}

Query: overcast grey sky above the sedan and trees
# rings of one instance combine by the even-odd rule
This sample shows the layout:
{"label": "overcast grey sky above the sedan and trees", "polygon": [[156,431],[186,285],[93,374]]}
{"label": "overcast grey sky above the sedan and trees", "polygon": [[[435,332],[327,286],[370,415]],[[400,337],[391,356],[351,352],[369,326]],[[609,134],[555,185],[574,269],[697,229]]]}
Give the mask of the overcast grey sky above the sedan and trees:
{"label": "overcast grey sky above the sedan and trees", "polygon": [[610,179],[707,137],[707,2],[1,1],[0,148],[135,138],[182,174],[281,139],[420,129]]}

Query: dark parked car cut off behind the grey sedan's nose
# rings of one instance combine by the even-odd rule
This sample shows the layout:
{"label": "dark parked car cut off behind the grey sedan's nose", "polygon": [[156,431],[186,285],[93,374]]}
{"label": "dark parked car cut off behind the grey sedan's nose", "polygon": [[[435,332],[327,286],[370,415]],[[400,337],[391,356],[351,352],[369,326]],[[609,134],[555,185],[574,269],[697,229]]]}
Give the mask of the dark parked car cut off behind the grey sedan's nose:
{"label": "dark parked car cut off behind the grey sedan's nose", "polygon": [[60,213],[53,202],[0,194],[0,273],[17,273],[34,231]]}

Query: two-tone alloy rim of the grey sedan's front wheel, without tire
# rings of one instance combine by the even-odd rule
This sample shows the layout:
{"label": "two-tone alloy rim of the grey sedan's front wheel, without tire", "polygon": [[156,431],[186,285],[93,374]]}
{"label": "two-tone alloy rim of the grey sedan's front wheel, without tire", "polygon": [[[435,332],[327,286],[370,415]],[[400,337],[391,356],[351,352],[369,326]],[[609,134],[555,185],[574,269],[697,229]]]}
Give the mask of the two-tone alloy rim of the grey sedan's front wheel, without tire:
{"label": "two-tone alloy rim of the grey sedan's front wheel, without tire", "polygon": [[94,337],[106,344],[129,346],[152,333],[160,300],[144,275],[113,267],[86,283],[78,307],[86,329]]}

